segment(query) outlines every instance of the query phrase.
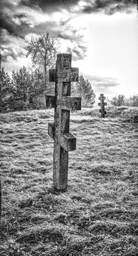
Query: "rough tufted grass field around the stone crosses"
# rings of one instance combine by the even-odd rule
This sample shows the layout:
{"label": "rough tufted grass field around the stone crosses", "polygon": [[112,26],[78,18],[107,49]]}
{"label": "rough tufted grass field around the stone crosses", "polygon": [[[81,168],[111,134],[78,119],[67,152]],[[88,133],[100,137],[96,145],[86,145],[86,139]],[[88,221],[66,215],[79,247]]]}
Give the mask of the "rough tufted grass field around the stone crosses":
{"label": "rough tufted grass field around the stone crosses", "polygon": [[71,114],[64,193],[52,188],[53,111],[1,114],[0,255],[138,255],[138,108],[98,111]]}

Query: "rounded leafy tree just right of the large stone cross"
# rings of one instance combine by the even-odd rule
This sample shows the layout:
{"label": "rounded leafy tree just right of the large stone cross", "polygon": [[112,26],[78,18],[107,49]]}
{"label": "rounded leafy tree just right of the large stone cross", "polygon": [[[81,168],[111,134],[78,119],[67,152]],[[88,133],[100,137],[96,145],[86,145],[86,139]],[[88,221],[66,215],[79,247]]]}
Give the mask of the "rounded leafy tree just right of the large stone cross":
{"label": "rounded leafy tree just right of the large stone cross", "polygon": [[81,97],[82,106],[92,106],[95,103],[95,93],[89,81],[79,76],[79,82],[72,84],[72,95]]}

